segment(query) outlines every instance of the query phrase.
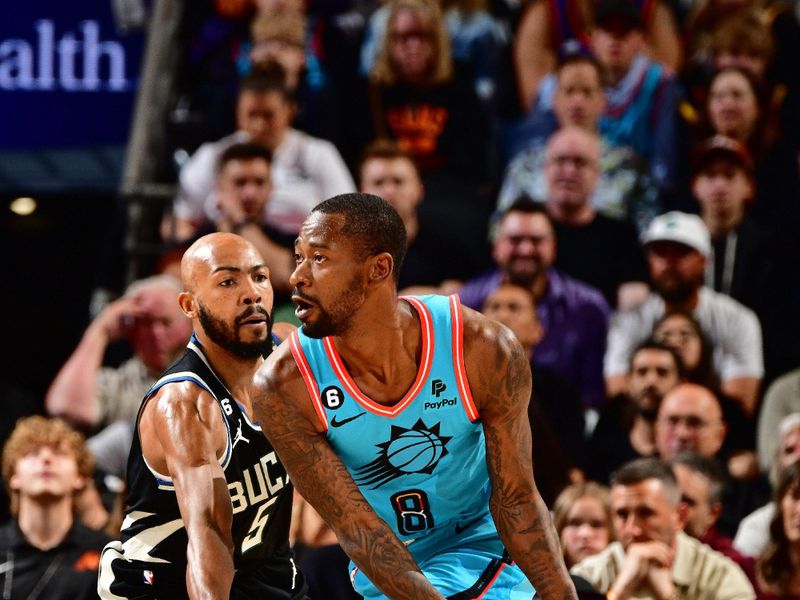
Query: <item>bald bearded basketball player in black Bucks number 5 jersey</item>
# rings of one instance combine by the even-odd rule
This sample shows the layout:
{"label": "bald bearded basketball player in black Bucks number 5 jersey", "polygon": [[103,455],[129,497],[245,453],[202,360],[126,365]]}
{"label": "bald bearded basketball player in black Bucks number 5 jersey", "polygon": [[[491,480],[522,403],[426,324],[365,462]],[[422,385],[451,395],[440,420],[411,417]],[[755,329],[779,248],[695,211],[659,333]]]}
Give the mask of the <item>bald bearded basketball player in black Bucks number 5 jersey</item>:
{"label": "bald bearded basketball player in black Bucks number 5 jersey", "polygon": [[128,508],[98,592],[304,598],[288,546],[292,486],[249,395],[273,344],[269,269],[244,238],[213,233],[187,250],[181,278],[194,335],[139,409]]}

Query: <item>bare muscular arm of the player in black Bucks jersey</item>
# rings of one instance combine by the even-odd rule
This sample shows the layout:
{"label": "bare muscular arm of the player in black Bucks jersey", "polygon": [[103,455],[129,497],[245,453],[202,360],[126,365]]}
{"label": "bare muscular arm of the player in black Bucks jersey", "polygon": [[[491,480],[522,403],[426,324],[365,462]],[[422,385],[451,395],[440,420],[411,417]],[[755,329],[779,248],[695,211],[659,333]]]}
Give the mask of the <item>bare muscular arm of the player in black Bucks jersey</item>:
{"label": "bare muscular arm of the player in black Bucks jersey", "polygon": [[[192,383],[171,384],[151,400],[143,416],[163,449],[186,526],[186,589],[189,597],[227,598],[233,582],[233,511],[217,452],[226,430],[216,400]],[[149,417],[149,423],[144,418]],[[144,437],[144,436],[143,436]]]}

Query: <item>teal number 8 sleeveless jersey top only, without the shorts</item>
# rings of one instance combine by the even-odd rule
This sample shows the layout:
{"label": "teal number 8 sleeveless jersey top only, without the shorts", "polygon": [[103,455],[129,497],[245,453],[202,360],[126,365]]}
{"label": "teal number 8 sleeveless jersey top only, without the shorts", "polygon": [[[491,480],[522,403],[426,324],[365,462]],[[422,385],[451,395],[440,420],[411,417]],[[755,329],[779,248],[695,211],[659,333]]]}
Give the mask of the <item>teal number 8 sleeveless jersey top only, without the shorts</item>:
{"label": "teal number 8 sleeveless jersey top only, without the shorts", "polygon": [[417,541],[409,549],[449,543],[478,522],[489,527],[473,533],[499,542],[484,518],[486,444],[464,367],[458,297],[401,301],[419,316],[422,348],[416,380],[393,406],[358,389],[332,338],[300,331],[290,338],[292,354],[328,441],[378,515],[401,540]]}

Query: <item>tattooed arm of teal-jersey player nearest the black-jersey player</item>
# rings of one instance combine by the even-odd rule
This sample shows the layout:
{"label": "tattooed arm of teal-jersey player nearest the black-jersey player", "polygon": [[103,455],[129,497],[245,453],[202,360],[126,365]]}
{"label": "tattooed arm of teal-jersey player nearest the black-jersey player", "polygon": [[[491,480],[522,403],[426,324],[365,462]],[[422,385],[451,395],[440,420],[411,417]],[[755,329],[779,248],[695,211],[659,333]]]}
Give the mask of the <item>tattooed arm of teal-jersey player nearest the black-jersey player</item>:
{"label": "tattooed arm of teal-jersey player nearest the black-jersey player", "polygon": [[251,397],[256,417],[295,488],[370,581],[390,598],[443,599],[328,444],[285,344],[256,373]]}

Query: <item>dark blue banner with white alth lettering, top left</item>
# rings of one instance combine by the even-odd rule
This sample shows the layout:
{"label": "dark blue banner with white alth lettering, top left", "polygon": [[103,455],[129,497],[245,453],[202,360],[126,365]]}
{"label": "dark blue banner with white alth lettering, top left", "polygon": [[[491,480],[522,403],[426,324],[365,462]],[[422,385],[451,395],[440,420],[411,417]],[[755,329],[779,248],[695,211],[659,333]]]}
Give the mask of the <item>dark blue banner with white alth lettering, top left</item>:
{"label": "dark blue banner with white alth lettering, top left", "polygon": [[125,144],[144,33],[118,27],[112,7],[124,3],[4,2],[0,150]]}

